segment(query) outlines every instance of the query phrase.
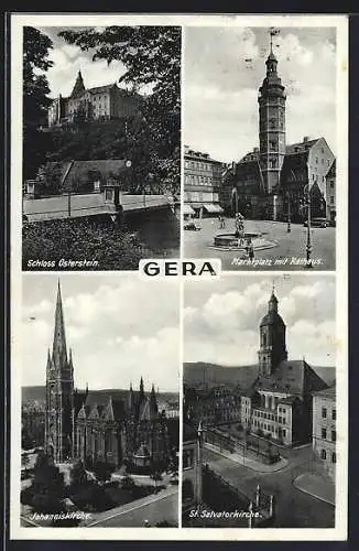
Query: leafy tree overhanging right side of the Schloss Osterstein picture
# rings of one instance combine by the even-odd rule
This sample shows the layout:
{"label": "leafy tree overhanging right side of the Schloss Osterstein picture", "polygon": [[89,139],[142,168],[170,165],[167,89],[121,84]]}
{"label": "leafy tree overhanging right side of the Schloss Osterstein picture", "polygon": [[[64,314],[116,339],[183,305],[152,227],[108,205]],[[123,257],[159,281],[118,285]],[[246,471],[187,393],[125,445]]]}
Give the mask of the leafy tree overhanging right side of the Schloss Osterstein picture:
{"label": "leafy tree overhanging right side of the Schloss Osterstein picture", "polygon": [[104,31],[63,31],[59,36],[84,51],[91,50],[95,60],[110,64],[119,60],[127,72],[119,83],[132,90],[151,90],[142,100],[142,118],[126,130],[127,158],[133,164],[132,191],[140,193],[160,182],[162,193],[180,192],[181,127],[181,28],[109,26]]}

